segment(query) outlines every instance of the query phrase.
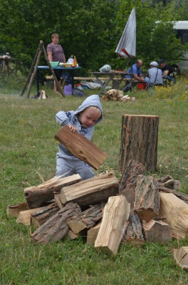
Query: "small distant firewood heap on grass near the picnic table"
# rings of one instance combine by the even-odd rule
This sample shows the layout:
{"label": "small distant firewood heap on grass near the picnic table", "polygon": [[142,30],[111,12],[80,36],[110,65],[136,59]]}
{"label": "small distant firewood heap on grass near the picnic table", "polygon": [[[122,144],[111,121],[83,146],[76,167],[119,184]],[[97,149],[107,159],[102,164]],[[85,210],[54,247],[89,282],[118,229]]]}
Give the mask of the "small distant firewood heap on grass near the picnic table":
{"label": "small distant firewood heap on grass near the picnic table", "polygon": [[103,95],[102,99],[104,101],[125,101],[125,102],[130,102],[130,101],[135,101],[135,97],[130,97],[129,95],[123,95],[122,90],[117,90],[117,89],[110,89],[108,90],[105,95]]}

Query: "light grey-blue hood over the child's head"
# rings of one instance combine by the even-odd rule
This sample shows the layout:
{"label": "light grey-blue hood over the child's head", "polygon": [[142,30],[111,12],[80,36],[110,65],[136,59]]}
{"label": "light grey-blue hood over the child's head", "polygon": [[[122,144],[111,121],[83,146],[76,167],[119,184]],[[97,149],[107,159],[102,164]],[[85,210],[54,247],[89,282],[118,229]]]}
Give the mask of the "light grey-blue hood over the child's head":
{"label": "light grey-blue hood over the child's head", "polygon": [[102,108],[102,105],[100,103],[100,98],[98,95],[90,95],[88,96],[88,98],[86,98],[82,105],[80,105],[78,107],[78,109],[75,111],[75,114],[78,114],[80,113],[81,111],[85,110],[86,108],[90,107],[90,106],[95,106],[95,107],[98,107],[101,111],[101,116],[100,118],[98,119],[98,121],[95,123],[98,124],[101,120],[103,120],[103,108]]}

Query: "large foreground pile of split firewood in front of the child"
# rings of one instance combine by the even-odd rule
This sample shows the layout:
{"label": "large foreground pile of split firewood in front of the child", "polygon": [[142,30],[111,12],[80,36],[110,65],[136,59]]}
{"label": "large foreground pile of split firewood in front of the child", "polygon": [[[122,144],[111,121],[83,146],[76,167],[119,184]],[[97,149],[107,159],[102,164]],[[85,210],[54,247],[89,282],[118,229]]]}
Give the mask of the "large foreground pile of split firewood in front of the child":
{"label": "large foreground pile of split firewood in front of the child", "polygon": [[[114,172],[103,172],[85,181],[72,175],[28,187],[26,203],[9,205],[7,214],[34,226],[32,242],[83,236],[96,249],[116,254],[121,242],[164,243],[187,237],[188,195],[180,187],[169,175],[158,180],[145,175],[145,166],[130,160],[120,181]],[[182,252],[174,251],[176,259]]]}

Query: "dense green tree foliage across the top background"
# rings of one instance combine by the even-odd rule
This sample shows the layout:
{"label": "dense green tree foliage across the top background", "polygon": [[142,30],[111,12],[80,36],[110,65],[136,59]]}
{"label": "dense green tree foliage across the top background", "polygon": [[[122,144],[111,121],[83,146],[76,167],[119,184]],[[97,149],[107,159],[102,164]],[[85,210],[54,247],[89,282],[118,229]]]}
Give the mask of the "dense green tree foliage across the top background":
{"label": "dense green tree foliage across the top background", "polygon": [[[66,58],[77,56],[80,73],[96,71],[108,63],[115,68],[130,66],[130,61],[117,58],[115,49],[132,8],[136,9],[136,57],[147,69],[150,61],[165,58],[178,61],[183,47],[172,31],[172,21],[186,20],[187,0],[0,0],[0,52],[22,62],[25,73],[38,48],[47,47],[51,34],[60,35]],[[165,4],[165,5],[164,5]],[[163,24],[156,26],[156,21]],[[169,22],[167,24],[167,22]],[[166,24],[165,24],[166,23]],[[40,64],[45,64],[41,57]]]}

